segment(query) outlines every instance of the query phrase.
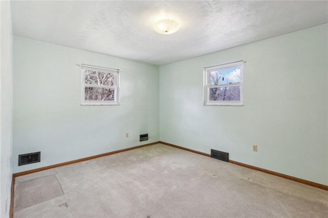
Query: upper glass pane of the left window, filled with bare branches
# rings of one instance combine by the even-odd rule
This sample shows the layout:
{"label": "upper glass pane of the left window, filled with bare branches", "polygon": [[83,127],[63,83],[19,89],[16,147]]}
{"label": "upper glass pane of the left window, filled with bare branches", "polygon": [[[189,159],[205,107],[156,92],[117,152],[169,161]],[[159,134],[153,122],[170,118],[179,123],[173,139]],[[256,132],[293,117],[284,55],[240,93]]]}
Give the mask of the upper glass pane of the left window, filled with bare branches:
{"label": "upper glass pane of the left window, filled with bare branches", "polygon": [[85,84],[114,85],[114,74],[104,71],[84,70]]}

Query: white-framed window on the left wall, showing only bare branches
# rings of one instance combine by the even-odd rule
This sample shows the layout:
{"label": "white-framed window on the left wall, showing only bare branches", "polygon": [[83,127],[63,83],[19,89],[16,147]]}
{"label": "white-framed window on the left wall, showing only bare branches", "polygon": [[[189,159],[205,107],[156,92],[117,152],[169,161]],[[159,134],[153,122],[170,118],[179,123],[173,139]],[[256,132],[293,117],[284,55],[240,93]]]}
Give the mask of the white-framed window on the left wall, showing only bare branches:
{"label": "white-framed window on the left wall, showing only bare branches", "polygon": [[119,105],[119,70],[81,64],[82,105]]}

